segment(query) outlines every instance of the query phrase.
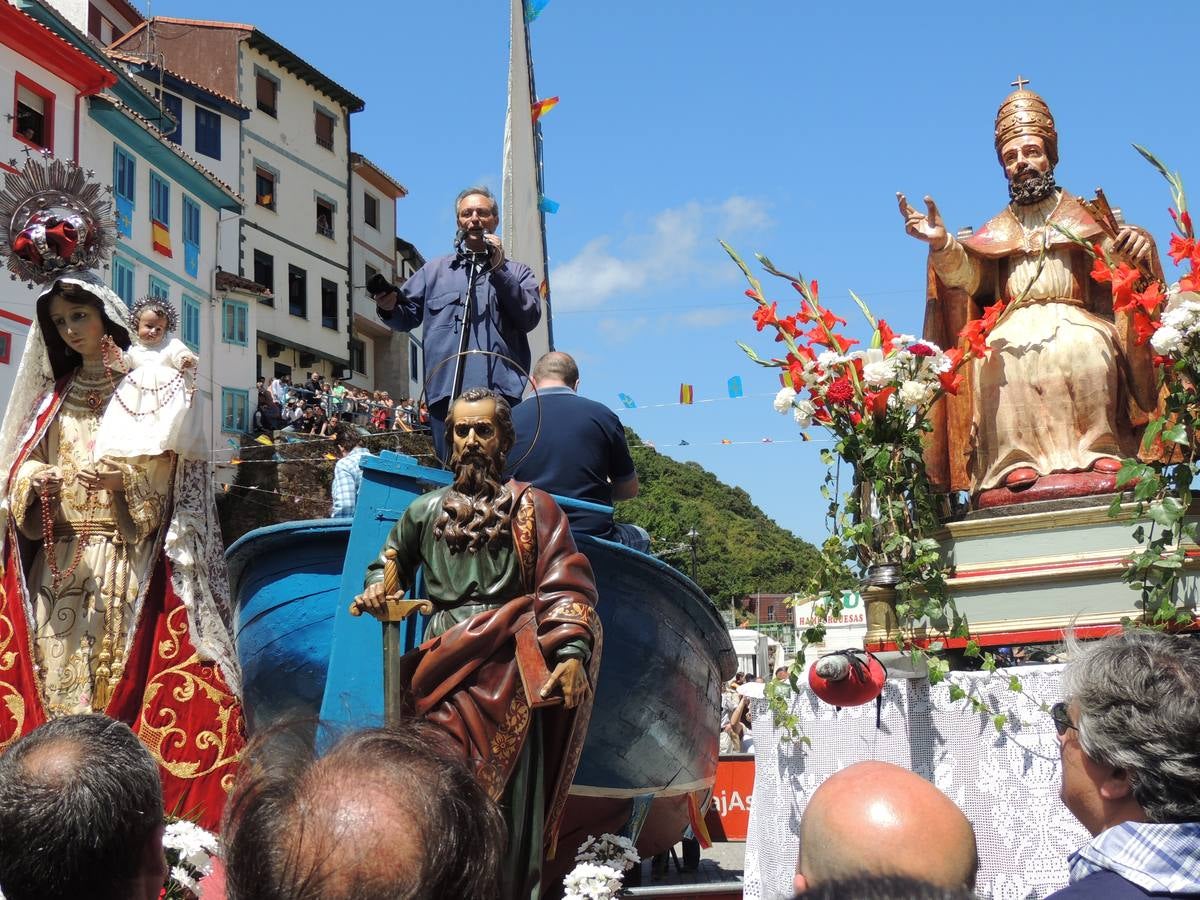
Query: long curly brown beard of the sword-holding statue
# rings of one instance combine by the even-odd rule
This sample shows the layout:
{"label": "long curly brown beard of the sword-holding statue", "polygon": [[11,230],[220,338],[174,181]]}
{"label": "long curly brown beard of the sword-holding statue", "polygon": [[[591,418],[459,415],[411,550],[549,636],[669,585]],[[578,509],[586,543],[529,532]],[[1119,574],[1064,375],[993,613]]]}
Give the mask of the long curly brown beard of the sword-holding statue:
{"label": "long curly brown beard of the sword-holding statue", "polygon": [[511,542],[512,492],[500,481],[504,457],[455,455],[450,460],[454,484],[442,500],[433,536],[451,553],[474,553],[485,546],[498,550]]}

